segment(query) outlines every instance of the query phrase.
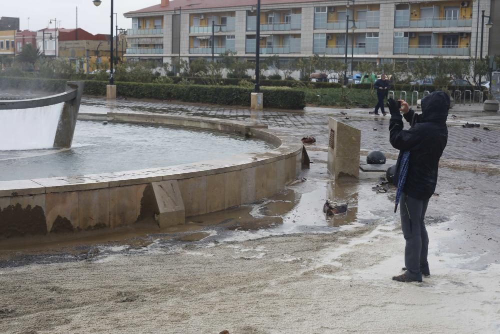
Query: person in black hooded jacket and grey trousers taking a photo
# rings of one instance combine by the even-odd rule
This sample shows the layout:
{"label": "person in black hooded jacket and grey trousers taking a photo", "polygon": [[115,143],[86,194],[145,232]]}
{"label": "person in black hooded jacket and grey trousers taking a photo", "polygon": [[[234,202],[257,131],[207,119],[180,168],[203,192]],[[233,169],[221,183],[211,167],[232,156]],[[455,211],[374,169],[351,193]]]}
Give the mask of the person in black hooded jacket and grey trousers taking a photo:
{"label": "person in black hooded jacket and grey trousers taking a photo", "polygon": [[[404,248],[405,272],[392,277],[401,282],[422,281],[422,274],[430,274],[427,262],[428,235],[424,217],[429,198],[435,191],[439,158],[446,147],[448,130],[446,118],[449,109],[449,96],[436,91],[421,101],[422,113],[417,115],[402,100],[398,109],[396,102],[389,99],[390,144],[399,150],[396,173],[403,152],[409,151],[409,165],[406,181],[401,194],[399,212],[401,229],[406,246]],[[403,130],[400,112],[411,127]],[[395,179],[398,178],[396,175]],[[394,182],[397,184],[397,181]]]}

